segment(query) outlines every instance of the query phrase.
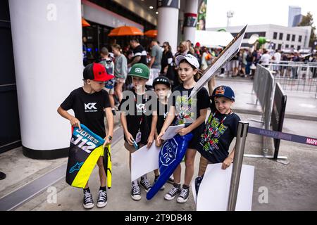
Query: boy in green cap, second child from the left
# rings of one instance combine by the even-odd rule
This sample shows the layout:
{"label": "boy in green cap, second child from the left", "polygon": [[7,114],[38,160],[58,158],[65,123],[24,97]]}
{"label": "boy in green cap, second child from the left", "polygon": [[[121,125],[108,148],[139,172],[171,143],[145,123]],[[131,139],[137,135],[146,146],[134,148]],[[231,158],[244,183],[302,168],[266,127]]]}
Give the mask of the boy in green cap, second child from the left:
{"label": "boy in green cap, second child from the left", "polygon": [[[131,170],[131,153],[147,145],[147,148],[154,142],[156,130],[157,115],[151,115],[147,108],[147,101],[150,96],[147,95],[145,83],[149,80],[149,68],[142,63],[136,63],[132,66],[128,76],[132,76],[133,89],[128,96],[123,94],[123,100],[119,105],[120,120],[125,134],[125,148],[130,152],[129,167]],[[147,179],[147,174],[141,177],[139,182],[145,191],[149,191],[151,183]],[[132,181],[131,198],[133,200],[141,199],[141,190],[138,181]]]}

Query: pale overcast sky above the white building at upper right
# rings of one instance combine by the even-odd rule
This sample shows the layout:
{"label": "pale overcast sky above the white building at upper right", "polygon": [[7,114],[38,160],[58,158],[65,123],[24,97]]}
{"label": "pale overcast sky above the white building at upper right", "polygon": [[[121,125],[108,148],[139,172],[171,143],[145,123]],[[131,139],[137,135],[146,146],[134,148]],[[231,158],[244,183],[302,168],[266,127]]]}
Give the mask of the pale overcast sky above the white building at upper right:
{"label": "pale overcast sky above the white building at upper right", "polygon": [[225,27],[227,11],[234,11],[232,26],[274,24],[287,26],[288,6],[299,6],[302,15],[313,14],[317,27],[316,0],[208,0],[206,27]]}

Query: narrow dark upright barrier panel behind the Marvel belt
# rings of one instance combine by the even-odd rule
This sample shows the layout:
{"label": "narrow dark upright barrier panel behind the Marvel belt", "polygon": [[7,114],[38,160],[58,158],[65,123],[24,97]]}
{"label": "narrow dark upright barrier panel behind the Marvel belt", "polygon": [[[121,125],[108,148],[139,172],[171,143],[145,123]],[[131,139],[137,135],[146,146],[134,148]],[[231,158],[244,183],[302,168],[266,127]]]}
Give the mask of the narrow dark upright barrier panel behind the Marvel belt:
{"label": "narrow dark upright barrier panel behind the Marvel belt", "polygon": [[[273,110],[271,114],[271,124],[273,131],[282,132],[285,117],[285,108],[287,96],[280,83],[275,85],[275,94],[273,98]],[[280,149],[280,139],[274,139],[274,160],[278,160],[278,150]]]}

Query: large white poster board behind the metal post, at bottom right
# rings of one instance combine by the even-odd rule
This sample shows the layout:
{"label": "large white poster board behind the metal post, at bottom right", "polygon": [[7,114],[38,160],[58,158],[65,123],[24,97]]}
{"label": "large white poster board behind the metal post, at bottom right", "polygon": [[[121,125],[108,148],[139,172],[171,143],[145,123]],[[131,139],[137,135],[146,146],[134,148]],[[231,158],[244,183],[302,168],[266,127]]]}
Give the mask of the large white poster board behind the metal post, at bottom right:
{"label": "large white poster board behind the metal post, at bottom right", "polygon": [[[226,211],[230,191],[232,165],[221,169],[222,163],[209,164],[197,195],[197,211]],[[242,165],[235,211],[251,211],[254,167]]]}

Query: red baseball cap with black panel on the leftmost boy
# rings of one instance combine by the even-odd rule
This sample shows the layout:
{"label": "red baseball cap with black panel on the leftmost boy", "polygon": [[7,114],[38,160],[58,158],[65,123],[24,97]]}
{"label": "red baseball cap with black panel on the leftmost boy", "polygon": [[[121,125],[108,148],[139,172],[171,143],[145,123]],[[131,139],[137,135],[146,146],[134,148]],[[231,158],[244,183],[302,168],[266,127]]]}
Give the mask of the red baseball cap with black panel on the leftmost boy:
{"label": "red baseball cap with black panel on the leftmost boy", "polygon": [[84,79],[92,79],[97,82],[106,82],[113,79],[113,75],[108,75],[104,65],[100,63],[91,63],[87,65],[83,73]]}

